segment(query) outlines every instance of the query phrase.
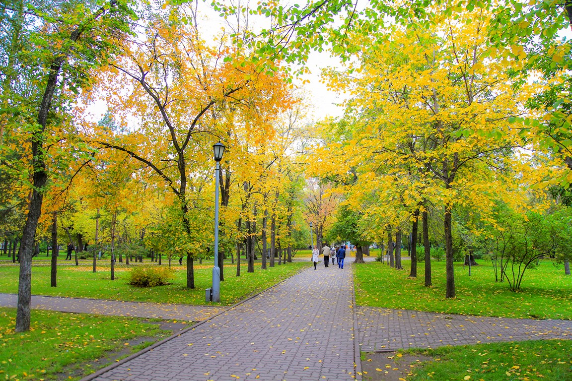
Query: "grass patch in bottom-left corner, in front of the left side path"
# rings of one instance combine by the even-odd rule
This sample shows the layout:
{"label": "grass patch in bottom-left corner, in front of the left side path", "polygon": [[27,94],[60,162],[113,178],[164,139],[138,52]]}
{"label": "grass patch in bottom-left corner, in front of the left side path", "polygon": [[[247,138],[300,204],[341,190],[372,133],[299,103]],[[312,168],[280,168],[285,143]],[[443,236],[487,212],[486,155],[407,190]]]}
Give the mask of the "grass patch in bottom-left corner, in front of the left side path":
{"label": "grass patch in bottom-left corner, in front of the left side path", "polygon": [[96,371],[90,362],[106,352],[130,348],[130,339],[154,338],[125,356],[170,335],[136,318],[41,310],[32,310],[29,332],[15,333],[15,315],[0,308],[0,380],[78,379]]}

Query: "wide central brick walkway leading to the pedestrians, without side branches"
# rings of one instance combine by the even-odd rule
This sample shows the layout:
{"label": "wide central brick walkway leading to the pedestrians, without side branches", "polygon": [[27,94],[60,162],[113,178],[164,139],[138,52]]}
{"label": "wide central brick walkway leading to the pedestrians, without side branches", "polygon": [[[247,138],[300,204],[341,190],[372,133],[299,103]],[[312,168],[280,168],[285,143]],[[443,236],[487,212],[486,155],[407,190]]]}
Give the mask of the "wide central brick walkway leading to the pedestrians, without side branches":
{"label": "wide central brick walkway leading to the pedestrians, without side branches", "polygon": [[352,380],[353,321],[351,265],[319,266],[84,380]]}

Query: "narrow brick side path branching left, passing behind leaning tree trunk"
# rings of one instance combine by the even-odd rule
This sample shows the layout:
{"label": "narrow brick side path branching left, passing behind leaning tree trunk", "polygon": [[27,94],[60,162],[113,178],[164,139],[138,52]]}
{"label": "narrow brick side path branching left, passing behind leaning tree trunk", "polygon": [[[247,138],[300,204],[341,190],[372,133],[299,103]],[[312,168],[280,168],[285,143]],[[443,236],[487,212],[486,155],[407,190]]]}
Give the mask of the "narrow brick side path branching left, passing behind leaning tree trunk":
{"label": "narrow brick side path branching left, passing behind leaning tree trunk", "polygon": [[[18,295],[0,294],[0,307],[16,307]],[[55,296],[32,295],[31,308],[85,314],[133,316],[135,318],[156,318],[164,320],[190,320],[200,322],[219,314],[228,307],[190,306],[188,304],[122,302],[121,300],[100,300],[86,298],[59,298]]]}

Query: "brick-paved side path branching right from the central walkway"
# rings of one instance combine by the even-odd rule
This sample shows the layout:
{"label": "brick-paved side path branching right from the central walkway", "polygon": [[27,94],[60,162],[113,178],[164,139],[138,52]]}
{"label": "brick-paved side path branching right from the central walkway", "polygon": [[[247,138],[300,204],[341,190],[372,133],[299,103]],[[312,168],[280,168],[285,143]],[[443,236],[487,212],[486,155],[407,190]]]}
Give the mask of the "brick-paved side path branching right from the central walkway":
{"label": "brick-paved side path branching right from the central walkway", "polygon": [[362,306],[358,306],[358,316],[362,351],[572,339],[570,320],[490,318]]}

